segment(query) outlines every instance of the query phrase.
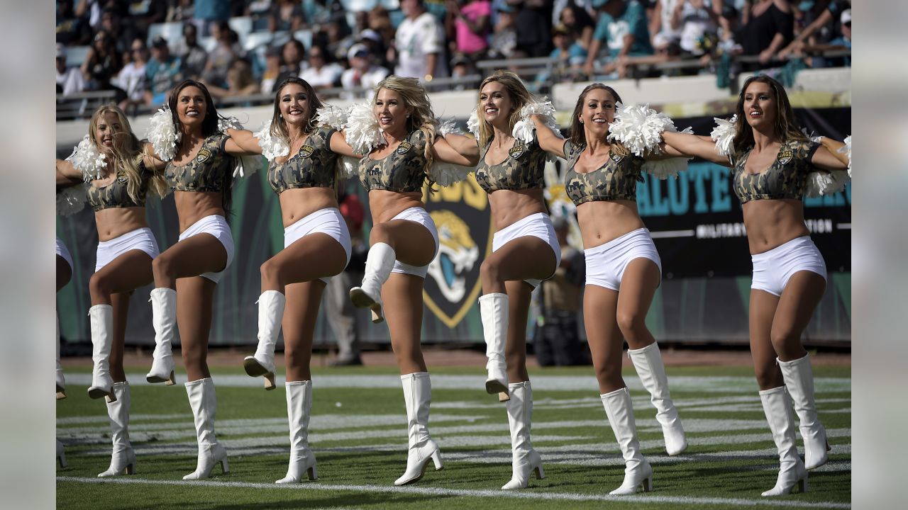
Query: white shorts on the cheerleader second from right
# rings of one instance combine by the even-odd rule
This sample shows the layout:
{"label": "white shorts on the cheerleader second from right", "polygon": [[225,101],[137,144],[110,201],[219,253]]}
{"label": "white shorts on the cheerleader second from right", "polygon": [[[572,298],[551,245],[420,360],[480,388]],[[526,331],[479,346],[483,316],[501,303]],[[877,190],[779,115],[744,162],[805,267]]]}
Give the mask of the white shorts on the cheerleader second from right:
{"label": "white shorts on the cheerleader second from right", "polygon": [[583,250],[587,259],[587,285],[598,285],[606,289],[621,289],[621,279],[627,264],[634,259],[649,259],[656,262],[659,268],[659,280],[662,279],[662,260],[656,251],[656,244],[649,235],[649,230],[637,229],[627,234],[600,244],[595,248]]}

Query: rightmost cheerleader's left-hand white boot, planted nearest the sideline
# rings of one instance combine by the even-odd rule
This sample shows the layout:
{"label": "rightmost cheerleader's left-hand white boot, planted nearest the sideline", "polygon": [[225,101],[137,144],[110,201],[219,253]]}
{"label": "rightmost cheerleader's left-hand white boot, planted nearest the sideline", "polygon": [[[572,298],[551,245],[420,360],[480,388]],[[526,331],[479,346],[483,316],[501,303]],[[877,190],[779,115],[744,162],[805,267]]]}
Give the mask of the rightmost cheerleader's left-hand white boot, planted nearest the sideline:
{"label": "rightmost cheerleader's left-hand white boot, planted nearest the sideline", "polygon": [[779,476],[775,487],[763,495],[786,495],[795,485],[801,492],[807,492],[807,470],[801,457],[797,456],[795,445],[795,418],[792,417],[792,402],[785,387],[774,387],[760,391],[763,412],[773,432],[775,447],[779,451]]}

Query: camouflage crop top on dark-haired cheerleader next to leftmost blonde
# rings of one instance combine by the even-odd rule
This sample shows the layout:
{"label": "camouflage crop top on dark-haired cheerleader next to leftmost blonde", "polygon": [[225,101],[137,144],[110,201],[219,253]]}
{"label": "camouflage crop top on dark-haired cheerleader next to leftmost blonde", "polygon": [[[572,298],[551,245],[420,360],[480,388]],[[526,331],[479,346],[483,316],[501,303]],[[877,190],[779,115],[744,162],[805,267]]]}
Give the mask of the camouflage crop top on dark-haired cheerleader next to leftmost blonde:
{"label": "camouflage crop top on dark-haired cheerleader next to leftmost blonde", "polygon": [[233,156],[224,152],[230,137],[216,132],[202,142],[191,162],[177,166],[167,162],[164,177],[173,191],[216,191],[230,187],[233,177]]}

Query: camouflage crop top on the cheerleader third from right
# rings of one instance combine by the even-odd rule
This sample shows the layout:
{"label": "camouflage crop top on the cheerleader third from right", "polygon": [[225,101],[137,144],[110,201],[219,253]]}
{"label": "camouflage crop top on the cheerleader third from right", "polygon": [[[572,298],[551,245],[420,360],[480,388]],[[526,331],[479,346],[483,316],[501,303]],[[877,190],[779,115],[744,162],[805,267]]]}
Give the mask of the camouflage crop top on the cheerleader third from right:
{"label": "camouflage crop top on the cheerleader third from right", "polygon": [[487,193],[546,186],[544,171],[548,154],[539,147],[538,142],[515,140],[514,146],[508,149],[505,161],[493,165],[486,162],[486,154],[491,145],[491,141],[486,144],[476,167],[476,181]]}

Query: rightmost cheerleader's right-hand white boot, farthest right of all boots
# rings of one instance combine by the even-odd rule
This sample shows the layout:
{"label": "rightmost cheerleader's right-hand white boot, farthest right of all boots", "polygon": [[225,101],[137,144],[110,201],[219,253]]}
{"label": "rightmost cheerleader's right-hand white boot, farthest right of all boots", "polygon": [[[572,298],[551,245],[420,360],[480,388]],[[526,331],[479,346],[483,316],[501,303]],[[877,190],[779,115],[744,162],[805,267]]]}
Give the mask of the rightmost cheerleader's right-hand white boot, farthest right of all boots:
{"label": "rightmost cheerleader's right-hand white boot, farthest right of all boots", "polygon": [[829,460],[829,442],[826,440],[826,429],[816,416],[814,403],[814,369],[810,366],[810,355],[793,361],[779,361],[782,377],[788,395],[795,403],[801,438],[804,439],[804,465],[807,469],[823,466]]}

